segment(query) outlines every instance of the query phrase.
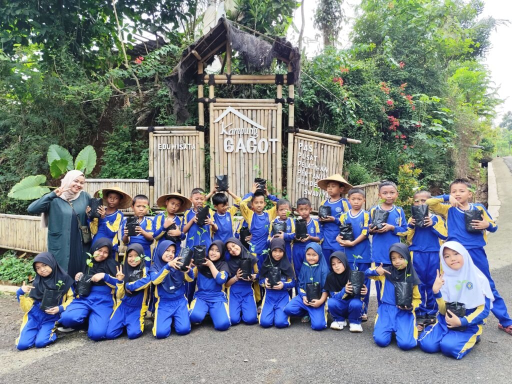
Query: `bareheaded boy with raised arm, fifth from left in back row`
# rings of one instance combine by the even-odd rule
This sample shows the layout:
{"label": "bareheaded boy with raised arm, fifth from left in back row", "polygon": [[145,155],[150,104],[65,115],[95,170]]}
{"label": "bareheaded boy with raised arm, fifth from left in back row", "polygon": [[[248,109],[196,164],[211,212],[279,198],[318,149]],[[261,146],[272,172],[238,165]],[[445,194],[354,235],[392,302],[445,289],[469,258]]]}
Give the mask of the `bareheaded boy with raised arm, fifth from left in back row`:
{"label": "bareheaded boy with raised arm, fifth from left in back row", "polygon": [[211,197],[211,202],[214,204],[215,212],[212,215],[211,231],[213,232],[212,240],[220,240],[223,243],[227,239],[233,237],[233,218],[240,207],[242,199],[235,194],[232,194],[229,189],[227,190],[229,196],[234,199],[234,204],[228,206],[227,196],[223,193],[216,193]]}

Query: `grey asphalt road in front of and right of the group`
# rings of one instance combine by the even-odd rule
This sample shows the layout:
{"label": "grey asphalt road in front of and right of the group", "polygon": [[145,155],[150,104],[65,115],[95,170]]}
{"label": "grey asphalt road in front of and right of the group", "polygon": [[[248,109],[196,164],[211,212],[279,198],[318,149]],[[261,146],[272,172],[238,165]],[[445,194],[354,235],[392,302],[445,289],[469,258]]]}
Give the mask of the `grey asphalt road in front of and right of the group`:
{"label": "grey asphalt road in front of and right of the group", "polygon": [[[512,158],[506,158],[512,169]],[[512,308],[509,269],[508,217],[512,176],[503,160],[494,167],[502,202],[500,230],[489,237],[489,260],[497,286]],[[501,195],[500,195],[501,190]],[[372,298],[370,318],[375,316]],[[262,329],[239,325],[226,332],[211,324],[193,327],[187,336],[156,340],[148,327],[137,340],[121,337],[95,343],[74,332],[59,337],[53,346],[18,352],[13,347],[21,313],[15,300],[0,297],[0,382],[37,380],[40,383],[508,383],[512,376],[512,337],[488,318],[481,342],[457,361],[419,349],[403,352],[395,343],[377,347],[372,322],[364,332],[330,329],[315,332],[300,319],[289,329]]]}

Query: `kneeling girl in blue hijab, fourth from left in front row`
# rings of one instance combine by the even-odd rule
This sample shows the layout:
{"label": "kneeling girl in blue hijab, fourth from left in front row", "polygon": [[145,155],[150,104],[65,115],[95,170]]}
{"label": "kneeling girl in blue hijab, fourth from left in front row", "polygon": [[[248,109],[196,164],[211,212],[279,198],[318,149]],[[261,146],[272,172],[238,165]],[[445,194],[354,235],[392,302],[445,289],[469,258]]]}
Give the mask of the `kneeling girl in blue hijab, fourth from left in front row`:
{"label": "kneeling girl in blue hijab, fourth from left in front row", "polygon": [[[183,272],[179,268],[183,265],[180,257],[175,256],[176,245],[170,240],[158,244],[150,268],[151,281],[155,285],[155,323],[153,335],[156,338],[165,338],[170,335],[170,327],[179,335],[190,332],[188,318],[188,303],[185,297],[185,276],[191,273],[189,266]],[[190,277],[190,276],[189,276]],[[191,279],[190,279],[191,280]]]}

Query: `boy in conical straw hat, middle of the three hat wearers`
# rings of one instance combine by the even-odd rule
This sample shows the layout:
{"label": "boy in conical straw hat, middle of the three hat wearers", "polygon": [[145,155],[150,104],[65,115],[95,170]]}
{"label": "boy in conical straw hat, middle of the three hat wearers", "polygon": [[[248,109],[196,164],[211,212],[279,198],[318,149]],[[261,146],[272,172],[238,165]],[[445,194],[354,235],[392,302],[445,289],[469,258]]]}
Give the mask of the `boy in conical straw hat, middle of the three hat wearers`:
{"label": "boy in conical straw hat, middle of the three hat wearers", "polygon": [[[186,234],[181,231],[183,220],[176,214],[189,209],[192,206],[192,202],[182,194],[173,192],[172,194],[160,196],[157,199],[157,206],[165,210],[153,220],[153,238],[156,240],[154,249],[158,247],[161,241],[171,240],[176,243],[175,254],[178,255],[181,249],[181,241],[185,240]],[[173,228],[171,229],[171,227]]]}

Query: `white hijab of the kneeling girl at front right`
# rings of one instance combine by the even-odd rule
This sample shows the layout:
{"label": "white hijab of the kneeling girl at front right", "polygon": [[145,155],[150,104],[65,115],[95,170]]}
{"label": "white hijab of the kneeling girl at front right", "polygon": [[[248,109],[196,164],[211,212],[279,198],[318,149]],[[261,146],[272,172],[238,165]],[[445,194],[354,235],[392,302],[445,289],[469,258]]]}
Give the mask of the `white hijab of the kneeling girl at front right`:
{"label": "white hijab of the kneeling girl at front right", "polygon": [[[461,269],[455,270],[446,264],[443,257],[444,248],[453,249],[462,255],[464,265]],[[456,241],[447,241],[441,245],[439,257],[444,272],[444,285],[440,289],[444,301],[463,303],[466,309],[472,309],[485,304],[485,297],[488,297],[492,308],[494,295],[489,281],[475,266],[470,253],[462,244]]]}

